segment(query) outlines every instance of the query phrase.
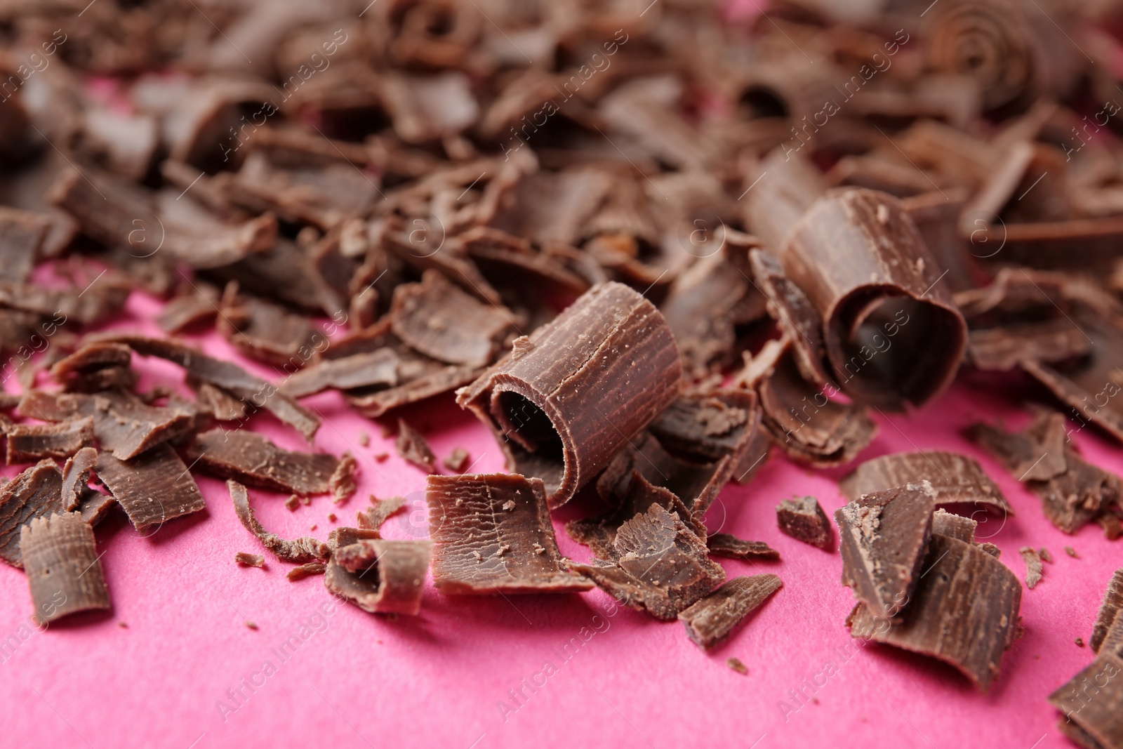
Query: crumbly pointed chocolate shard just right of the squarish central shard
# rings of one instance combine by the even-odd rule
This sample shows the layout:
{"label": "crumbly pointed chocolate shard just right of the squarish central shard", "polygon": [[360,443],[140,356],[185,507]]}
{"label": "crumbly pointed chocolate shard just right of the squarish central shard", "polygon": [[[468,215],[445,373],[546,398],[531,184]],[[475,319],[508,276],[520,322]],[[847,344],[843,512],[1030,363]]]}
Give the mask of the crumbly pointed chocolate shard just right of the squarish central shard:
{"label": "crumbly pointed chocolate shard just right of the squarish central shard", "polygon": [[613,566],[569,564],[609,595],[637,611],[670,621],[725,579],[705,544],[677,513],[652,504],[617,531]]}

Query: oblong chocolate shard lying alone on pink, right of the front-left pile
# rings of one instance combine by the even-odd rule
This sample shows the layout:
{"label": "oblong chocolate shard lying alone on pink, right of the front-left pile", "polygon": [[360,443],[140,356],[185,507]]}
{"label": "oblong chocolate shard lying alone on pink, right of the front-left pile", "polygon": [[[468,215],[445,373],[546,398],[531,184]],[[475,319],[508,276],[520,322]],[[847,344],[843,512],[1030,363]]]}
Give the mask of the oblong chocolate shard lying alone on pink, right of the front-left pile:
{"label": "oblong chocolate shard lying alone on pink, right of the front-left pile", "polygon": [[339,460],[322,453],[277,447],[264,435],[244,429],[211,429],[195,437],[193,465],[220,478],[293,494],[327,494]]}

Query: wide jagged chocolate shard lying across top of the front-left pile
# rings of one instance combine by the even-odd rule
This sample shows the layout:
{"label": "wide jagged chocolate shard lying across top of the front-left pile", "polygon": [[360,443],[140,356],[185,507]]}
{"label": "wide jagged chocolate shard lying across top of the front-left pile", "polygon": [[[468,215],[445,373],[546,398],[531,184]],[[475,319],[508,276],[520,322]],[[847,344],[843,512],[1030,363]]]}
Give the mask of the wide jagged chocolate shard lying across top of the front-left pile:
{"label": "wide jagged chocolate shard lying across top of the front-left pile", "polygon": [[19,410],[44,421],[90,417],[101,448],[120,460],[182,437],[195,426],[194,410],[188,404],[148,405],[124,391],[93,395],[31,391],[20,401]]}

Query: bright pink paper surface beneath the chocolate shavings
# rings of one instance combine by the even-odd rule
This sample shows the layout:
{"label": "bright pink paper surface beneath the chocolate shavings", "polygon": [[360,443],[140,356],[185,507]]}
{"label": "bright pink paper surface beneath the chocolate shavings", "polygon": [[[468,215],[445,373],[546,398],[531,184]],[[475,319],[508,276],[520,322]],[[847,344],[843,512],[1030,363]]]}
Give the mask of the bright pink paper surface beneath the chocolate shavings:
{"label": "bright pink paper surface beneath the chocolate shavings", "polygon": [[[135,293],[130,319],[115,327],[155,332],[157,309]],[[217,336],[198,342],[277,378]],[[182,380],[163,362],[141,360],[138,367],[141,386]],[[1041,393],[1016,378],[961,375],[919,414],[878,415],[880,433],[861,455],[951,449],[978,457],[1017,512],[1005,521],[989,518],[979,537],[998,545],[1020,578],[1020,547],[1052,552],[1044,579],[1024,592],[1025,634],[1006,654],[990,694],[931,659],[852,645],[843,624],[852,599],[839,584],[838,555],[780,535],[774,512],[794,493],[813,494],[833,512],[844,503],[837,488],[842,469],[814,473],[774,451],[751,484],[722,492],[707,518],[711,527],[767,541],[783,561],[721,564],[730,576],[774,572],[784,587],[711,654],[699,650],[681,623],[615,606],[597,590],[449,597],[430,585],[421,615],[396,620],[340,605],[319,577],[287,582],[287,565],[270,559],[264,570],[236,566],[235,552],[262,549],[238,523],[225,485],[201,477],[204,513],[171,521],[149,538],[121,517],[98,528],[113,600],[108,616],[77,616],[35,631],[24,574],[0,565],[0,746],[1068,746],[1053,728],[1058,714],[1046,696],[1092,660],[1074,638],[1088,638],[1111,573],[1123,564],[1123,546],[1106,541],[1096,527],[1075,537],[1052,528],[1038,500],[961,437],[980,418],[1022,426],[1028,417],[1017,403],[1026,394]],[[380,426],[356,415],[337,394],[307,404],[325,420],[316,449],[350,450],[359,458],[359,491],[341,508],[321,496],[295,512],[283,506],[282,495],[253,491],[263,523],[285,537],[307,533],[314,523],[312,535],[326,538],[332,527],[354,522],[368,494],[401,494],[411,500],[409,512],[387,521],[385,535],[423,538],[421,472],[398,458]],[[492,437],[450,396],[402,415],[430,438],[439,457],[463,446],[474,471],[501,469]],[[272,417],[256,417],[249,428],[302,447]],[[367,447],[360,446],[364,431]],[[1123,472],[1116,446],[1087,429],[1074,439],[1093,463]],[[373,456],[383,451],[391,457],[376,462]],[[575,559],[587,558],[587,550],[565,536],[563,523],[587,511],[567,505],[555,514],[562,551]],[[330,512],[339,515],[336,523]],[[1065,545],[1080,558],[1067,556]],[[729,657],[741,659],[749,675],[730,670]],[[800,691],[797,701],[793,694]]]}

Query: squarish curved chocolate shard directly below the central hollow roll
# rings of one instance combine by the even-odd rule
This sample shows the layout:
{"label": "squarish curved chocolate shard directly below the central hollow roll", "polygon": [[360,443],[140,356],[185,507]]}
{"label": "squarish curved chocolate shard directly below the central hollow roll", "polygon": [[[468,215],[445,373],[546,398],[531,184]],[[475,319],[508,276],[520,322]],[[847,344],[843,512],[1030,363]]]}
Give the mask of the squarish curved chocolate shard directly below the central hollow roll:
{"label": "squarish curved chocolate shard directly below the central hollow roll", "polygon": [[448,594],[570,593],[592,583],[562,567],[546,487],[518,474],[426,479],[432,578]]}

